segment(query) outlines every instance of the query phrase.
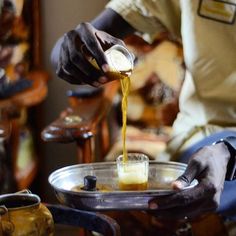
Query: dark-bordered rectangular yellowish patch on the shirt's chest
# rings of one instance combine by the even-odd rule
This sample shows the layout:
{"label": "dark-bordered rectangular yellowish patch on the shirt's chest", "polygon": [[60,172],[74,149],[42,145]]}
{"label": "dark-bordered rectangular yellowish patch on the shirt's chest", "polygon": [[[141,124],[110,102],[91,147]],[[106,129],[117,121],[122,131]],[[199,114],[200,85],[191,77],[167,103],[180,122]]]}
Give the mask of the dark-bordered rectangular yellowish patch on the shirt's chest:
{"label": "dark-bordered rectangular yellowish patch on the shirt's chest", "polygon": [[198,15],[207,19],[233,24],[236,0],[200,0]]}

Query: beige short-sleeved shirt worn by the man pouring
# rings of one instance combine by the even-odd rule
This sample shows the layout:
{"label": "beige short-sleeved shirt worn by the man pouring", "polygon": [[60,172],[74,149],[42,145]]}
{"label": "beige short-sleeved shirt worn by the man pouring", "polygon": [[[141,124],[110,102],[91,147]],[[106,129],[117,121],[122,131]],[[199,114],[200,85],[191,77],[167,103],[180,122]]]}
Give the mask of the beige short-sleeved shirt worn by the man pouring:
{"label": "beige short-sleeved shirt worn by the man pouring", "polygon": [[236,127],[235,0],[113,0],[107,7],[147,40],[169,31],[182,41],[187,72],[173,126],[178,145],[199,127]]}

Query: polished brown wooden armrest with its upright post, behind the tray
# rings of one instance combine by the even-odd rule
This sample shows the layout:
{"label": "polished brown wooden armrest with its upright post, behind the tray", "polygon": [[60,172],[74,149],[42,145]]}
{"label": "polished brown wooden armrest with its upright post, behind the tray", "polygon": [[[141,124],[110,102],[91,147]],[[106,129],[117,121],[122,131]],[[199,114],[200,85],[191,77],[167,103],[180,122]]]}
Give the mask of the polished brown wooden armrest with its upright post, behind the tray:
{"label": "polished brown wooden armrest with its upright post, behind the tray", "polygon": [[[42,139],[47,142],[75,142],[78,163],[101,161],[111,146],[108,114],[118,88],[119,83],[114,81],[95,93],[71,97],[69,107],[43,130]],[[94,150],[95,143],[99,152]]]}

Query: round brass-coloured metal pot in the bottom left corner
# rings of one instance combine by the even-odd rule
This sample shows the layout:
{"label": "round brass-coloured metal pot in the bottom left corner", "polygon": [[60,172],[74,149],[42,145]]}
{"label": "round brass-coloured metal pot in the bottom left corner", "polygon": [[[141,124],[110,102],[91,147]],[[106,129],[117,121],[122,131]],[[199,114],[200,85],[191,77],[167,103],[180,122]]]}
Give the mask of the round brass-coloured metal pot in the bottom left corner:
{"label": "round brass-coloured metal pot in the bottom left corner", "polygon": [[53,217],[29,190],[0,195],[0,235],[52,236]]}

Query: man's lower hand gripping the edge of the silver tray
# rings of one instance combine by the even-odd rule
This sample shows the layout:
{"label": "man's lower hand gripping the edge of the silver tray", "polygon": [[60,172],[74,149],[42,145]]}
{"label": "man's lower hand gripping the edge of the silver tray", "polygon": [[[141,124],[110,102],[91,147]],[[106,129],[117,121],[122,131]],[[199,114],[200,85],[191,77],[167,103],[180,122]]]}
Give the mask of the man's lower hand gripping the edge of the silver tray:
{"label": "man's lower hand gripping the edge of the silver tray", "polygon": [[[219,206],[229,158],[224,143],[201,148],[190,158],[183,175],[172,183],[177,192],[151,200],[150,213],[161,218],[183,219],[215,211]],[[199,182],[195,187],[178,191],[194,179]]]}

